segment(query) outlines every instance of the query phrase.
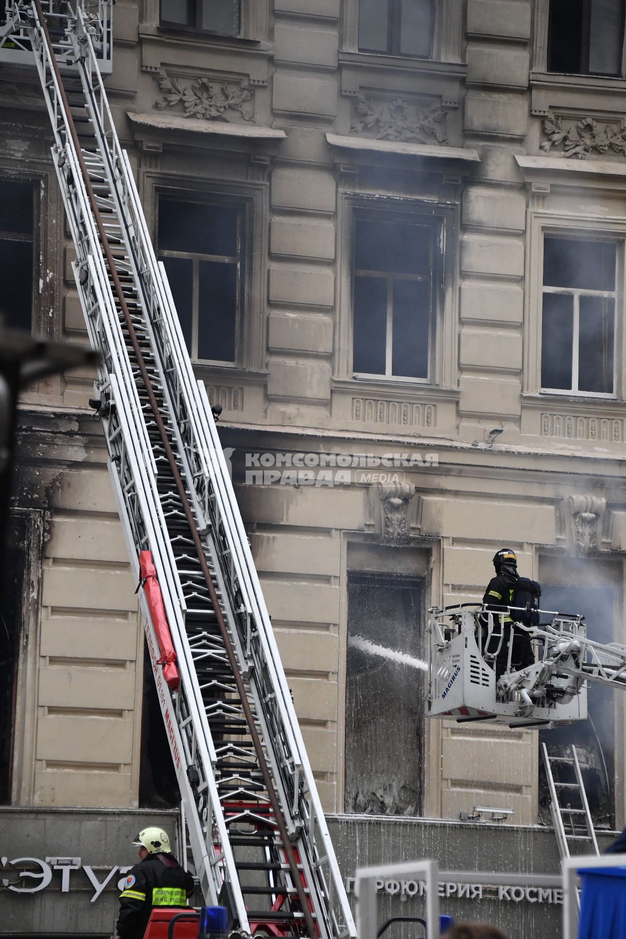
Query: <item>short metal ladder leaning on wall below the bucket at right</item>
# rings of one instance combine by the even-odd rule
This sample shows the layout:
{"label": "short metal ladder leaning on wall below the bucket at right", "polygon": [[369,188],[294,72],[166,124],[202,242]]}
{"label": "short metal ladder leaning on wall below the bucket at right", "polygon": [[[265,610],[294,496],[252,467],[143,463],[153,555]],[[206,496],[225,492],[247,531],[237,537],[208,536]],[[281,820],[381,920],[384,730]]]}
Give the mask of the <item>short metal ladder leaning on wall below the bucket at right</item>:
{"label": "short metal ladder leaning on wall below the bucket at right", "polygon": [[[550,814],[561,860],[571,854],[570,841],[578,841],[581,847],[588,849],[582,854],[600,854],[575,744],[572,744],[570,752],[569,757],[551,757],[546,745],[542,744],[543,766],[550,793]],[[555,779],[553,767],[559,764],[573,769],[573,781]],[[573,808],[572,802],[574,802]]]}

